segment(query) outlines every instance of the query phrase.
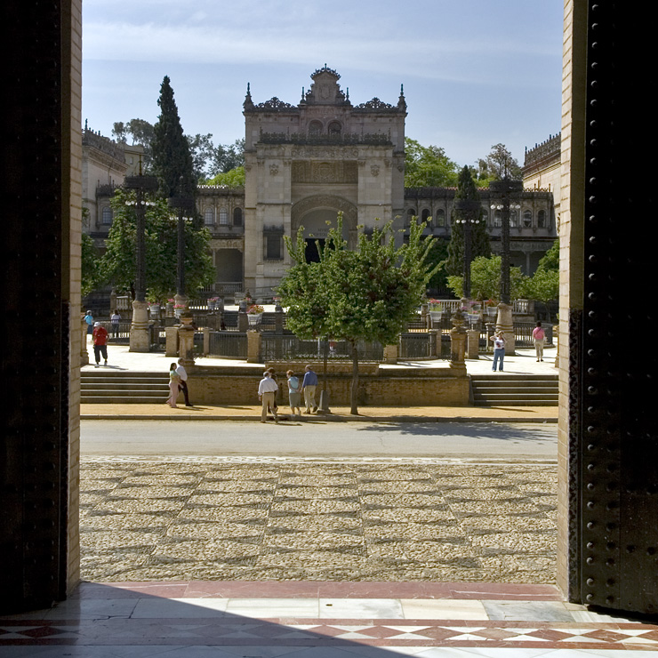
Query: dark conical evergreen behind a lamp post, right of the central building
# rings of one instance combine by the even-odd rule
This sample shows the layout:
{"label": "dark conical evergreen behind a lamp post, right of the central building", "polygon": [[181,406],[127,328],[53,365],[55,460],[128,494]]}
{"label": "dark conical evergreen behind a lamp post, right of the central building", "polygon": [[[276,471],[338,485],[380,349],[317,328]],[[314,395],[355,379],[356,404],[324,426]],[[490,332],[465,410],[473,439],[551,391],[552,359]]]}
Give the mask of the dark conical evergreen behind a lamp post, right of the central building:
{"label": "dark conical evergreen behind a lamp post, right of the central building", "polygon": [[[468,166],[464,166],[459,174],[457,193],[455,201],[480,201],[480,194],[475,186]],[[464,225],[461,220],[469,217],[469,213],[453,210],[453,218],[450,227],[450,244],[448,245],[448,258],[445,261],[445,272],[450,276],[459,276],[464,271]],[[477,223],[470,224],[470,257],[471,262],[479,256],[488,258],[491,255],[489,245],[489,234],[486,232],[486,223],[483,219],[482,207],[480,206],[475,217]]]}

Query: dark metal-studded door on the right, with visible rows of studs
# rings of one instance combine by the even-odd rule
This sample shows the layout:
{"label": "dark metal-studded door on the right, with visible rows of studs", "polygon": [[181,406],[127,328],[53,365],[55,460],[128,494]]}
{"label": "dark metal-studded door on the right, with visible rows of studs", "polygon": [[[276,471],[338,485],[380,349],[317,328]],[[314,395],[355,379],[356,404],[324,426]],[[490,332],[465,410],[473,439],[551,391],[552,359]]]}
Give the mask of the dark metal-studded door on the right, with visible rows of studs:
{"label": "dark metal-studded door on the right, with visible rows of studs", "polygon": [[590,2],[587,22],[584,300],[570,318],[575,575],[583,603],[655,614],[656,84],[645,69],[656,26],[652,10],[618,2]]}

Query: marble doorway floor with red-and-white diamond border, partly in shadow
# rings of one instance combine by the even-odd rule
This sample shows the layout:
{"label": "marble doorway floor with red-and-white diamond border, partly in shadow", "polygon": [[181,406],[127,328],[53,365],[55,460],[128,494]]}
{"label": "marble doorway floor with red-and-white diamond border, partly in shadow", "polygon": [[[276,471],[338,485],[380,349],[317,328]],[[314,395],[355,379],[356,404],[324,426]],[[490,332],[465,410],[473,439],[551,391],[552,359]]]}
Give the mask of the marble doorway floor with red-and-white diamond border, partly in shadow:
{"label": "marble doorway floor with red-and-white diamond border, partly in shadow", "polygon": [[0,617],[3,658],[591,658],[658,652],[658,620],[485,582],[83,582]]}

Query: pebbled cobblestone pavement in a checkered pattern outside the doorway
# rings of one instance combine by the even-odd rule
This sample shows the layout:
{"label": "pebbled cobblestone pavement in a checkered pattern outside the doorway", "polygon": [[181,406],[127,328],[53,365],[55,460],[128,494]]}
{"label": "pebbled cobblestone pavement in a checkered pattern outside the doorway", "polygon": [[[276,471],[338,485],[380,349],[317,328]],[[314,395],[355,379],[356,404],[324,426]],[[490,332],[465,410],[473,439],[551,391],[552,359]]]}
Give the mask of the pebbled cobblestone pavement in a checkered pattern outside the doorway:
{"label": "pebbled cobblestone pavement in a checkered pattern outside the doorway", "polygon": [[552,583],[555,465],[84,459],[82,577]]}

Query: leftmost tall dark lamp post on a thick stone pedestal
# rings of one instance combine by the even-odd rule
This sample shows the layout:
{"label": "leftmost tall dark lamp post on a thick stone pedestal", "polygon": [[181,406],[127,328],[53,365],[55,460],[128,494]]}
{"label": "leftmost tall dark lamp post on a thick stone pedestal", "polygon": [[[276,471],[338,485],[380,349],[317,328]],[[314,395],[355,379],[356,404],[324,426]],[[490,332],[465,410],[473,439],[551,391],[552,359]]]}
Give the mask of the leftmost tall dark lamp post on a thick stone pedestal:
{"label": "leftmost tall dark lamp post on a thick stone pedestal", "polygon": [[146,304],[146,215],[144,206],[154,205],[144,199],[146,192],[157,190],[155,176],[126,176],[125,189],[135,190],[135,201],[127,201],[126,205],[135,206],[136,236],[135,236],[135,299],[132,301],[132,324],[130,327],[130,351],[148,352],[148,313]]}

